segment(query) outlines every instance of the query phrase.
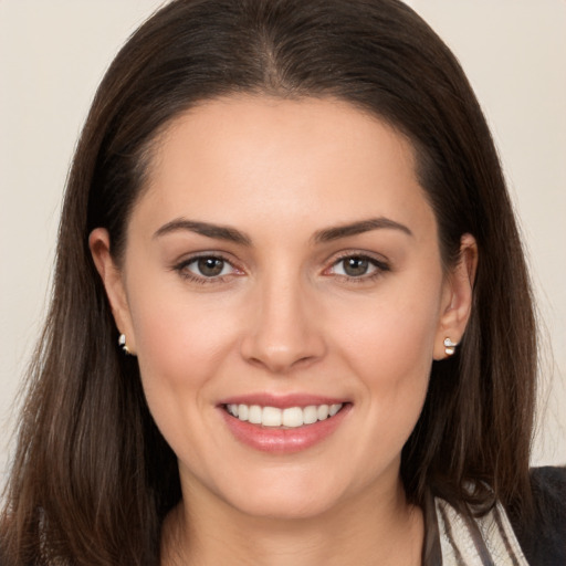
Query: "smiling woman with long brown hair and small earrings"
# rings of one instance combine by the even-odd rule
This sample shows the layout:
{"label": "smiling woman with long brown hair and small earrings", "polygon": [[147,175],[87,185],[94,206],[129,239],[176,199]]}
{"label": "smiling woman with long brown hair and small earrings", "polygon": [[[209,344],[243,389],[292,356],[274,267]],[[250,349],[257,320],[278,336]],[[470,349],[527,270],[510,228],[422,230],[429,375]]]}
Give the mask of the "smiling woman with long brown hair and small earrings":
{"label": "smiling woman with long brown hair and small earrings", "polygon": [[6,563],[564,559],[501,168],[405,4],[156,13],[93,103],[54,285]]}

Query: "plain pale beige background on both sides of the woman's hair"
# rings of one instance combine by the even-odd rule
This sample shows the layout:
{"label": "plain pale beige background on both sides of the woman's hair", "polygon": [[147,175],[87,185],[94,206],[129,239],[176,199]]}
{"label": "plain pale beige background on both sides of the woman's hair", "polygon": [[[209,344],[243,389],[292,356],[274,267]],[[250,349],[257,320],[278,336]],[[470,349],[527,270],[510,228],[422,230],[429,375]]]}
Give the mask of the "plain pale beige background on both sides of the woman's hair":
{"label": "plain pale beige background on both sides of the woman's hair", "polygon": [[[113,55],[161,3],[0,0],[0,480],[74,144]],[[409,3],[459,56],[492,125],[554,349],[533,463],[566,463],[566,1]]]}

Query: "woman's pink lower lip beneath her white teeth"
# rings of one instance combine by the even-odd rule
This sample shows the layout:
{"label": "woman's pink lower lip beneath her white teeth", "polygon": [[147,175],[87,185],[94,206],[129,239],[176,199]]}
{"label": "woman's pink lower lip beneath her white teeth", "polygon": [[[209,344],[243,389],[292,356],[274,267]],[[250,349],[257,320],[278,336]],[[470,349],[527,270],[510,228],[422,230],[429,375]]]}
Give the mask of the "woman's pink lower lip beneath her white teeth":
{"label": "woman's pink lower lip beneath her white teeth", "polygon": [[350,408],[352,405],[345,405],[334,417],[291,429],[252,424],[232,417],[224,408],[219,410],[228,428],[240,442],[262,452],[292,454],[328,438],[342,424]]}

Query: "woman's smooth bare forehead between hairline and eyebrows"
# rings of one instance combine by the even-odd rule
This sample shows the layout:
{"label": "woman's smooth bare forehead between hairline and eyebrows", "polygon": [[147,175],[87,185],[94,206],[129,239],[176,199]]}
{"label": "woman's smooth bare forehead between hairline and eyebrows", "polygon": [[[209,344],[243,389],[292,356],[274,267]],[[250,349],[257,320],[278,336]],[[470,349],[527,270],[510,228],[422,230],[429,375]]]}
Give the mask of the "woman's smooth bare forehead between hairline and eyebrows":
{"label": "woman's smooth bare forehead between hairline and eyebrows", "polygon": [[410,142],[348,103],[317,98],[239,96],[191,108],[154,145],[142,200],[161,222],[285,224],[316,211],[324,226],[431,213]]}

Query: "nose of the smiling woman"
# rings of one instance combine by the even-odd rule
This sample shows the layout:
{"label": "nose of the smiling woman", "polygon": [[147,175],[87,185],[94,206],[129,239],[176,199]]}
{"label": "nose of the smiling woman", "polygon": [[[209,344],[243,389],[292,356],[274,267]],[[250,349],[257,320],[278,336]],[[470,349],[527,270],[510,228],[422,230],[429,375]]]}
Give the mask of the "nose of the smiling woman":
{"label": "nose of the smiling woman", "polygon": [[316,300],[298,281],[264,282],[256,290],[253,313],[241,342],[251,364],[285,375],[321,359],[326,346]]}

